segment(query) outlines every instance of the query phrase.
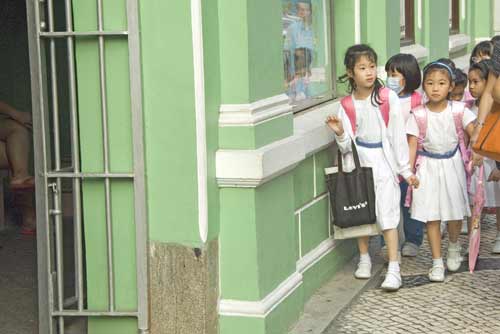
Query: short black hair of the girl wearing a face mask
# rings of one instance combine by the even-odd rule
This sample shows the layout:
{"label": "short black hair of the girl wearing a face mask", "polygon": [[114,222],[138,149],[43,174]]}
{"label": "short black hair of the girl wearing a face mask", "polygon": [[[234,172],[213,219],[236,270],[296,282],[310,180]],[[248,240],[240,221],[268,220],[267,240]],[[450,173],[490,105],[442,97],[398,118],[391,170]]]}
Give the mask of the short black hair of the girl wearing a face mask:
{"label": "short black hair of the girl wearing a face mask", "polygon": [[422,83],[422,74],[417,59],[410,54],[398,53],[387,61],[385,71],[396,71],[405,78],[405,93],[413,93]]}

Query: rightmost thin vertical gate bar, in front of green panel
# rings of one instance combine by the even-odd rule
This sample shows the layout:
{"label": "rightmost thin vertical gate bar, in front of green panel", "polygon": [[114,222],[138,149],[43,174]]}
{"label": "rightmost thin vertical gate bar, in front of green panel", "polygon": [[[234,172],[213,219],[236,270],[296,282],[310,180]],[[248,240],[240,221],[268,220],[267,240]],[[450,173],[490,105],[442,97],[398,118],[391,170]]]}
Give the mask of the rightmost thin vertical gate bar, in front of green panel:
{"label": "rightmost thin vertical gate bar, in front of green panel", "polygon": [[[97,29],[104,30],[104,16],[102,0],[97,0]],[[104,54],[104,37],[99,35],[99,79],[101,93],[101,120],[102,120],[102,145],[104,159],[104,173],[109,173],[109,127],[108,127],[108,100],[106,92],[106,59]],[[104,180],[105,211],[106,211],[106,243],[108,260],[108,299],[109,310],[115,311],[115,275],[113,261],[113,221],[111,217],[111,185],[109,178]]]}

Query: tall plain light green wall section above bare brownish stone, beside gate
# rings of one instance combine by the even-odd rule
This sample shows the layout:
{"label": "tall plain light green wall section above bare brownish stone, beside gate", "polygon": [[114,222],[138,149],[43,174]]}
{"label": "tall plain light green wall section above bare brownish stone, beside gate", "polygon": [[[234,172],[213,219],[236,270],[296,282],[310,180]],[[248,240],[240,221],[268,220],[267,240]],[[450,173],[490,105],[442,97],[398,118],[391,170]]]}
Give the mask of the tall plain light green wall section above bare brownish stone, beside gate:
{"label": "tall plain light green wall section above bare brownish stone, beside gate", "polygon": [[140,13],[149,235],[199,245],[190,3],[141,1]]}

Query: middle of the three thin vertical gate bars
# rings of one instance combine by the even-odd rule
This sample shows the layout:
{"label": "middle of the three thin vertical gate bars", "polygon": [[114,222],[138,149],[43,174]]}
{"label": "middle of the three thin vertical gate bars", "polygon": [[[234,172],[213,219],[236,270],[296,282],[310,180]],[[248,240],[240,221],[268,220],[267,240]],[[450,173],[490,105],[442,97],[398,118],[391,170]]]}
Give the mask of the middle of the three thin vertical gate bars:
{"label": "middle of the three thin vertical gate bars", "polygon": [[[76,75],[75,75],[75,53],[73,31],[73,6],[71,0],[65,0],[66,10],[66,42],[68,47],[68,81],[70,85],[70,116],[71,116],[71,159],[75,173],[80,172],[80,139],[78,131],[78,109],[76,97]],[[81,220],[81,180],[73,178],[73,219],[76,229],[76,268],[78,290],[78,310],[83,310],[83,241],[82,241],[82,220]],[[64,329],[63,329],[64,331]],[[64,333],[61,333],[64,334]]]}

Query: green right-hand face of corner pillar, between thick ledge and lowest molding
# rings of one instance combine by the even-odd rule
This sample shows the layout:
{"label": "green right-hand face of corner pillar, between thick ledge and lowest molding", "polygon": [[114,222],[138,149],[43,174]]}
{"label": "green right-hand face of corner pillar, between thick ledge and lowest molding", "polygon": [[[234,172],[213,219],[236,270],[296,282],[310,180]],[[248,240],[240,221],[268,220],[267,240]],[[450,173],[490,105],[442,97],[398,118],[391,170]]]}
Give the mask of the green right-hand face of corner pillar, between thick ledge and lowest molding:
{"label": "green right-hand face of corner pillar, between thick ledge and lowest molding", "polygon": [[[296,267],[290,173],[264,183],[255,192],[260,298],[290,276]],[[279,260],[278,260],[279,259]]]}

